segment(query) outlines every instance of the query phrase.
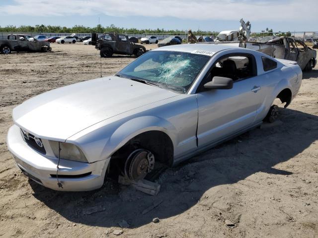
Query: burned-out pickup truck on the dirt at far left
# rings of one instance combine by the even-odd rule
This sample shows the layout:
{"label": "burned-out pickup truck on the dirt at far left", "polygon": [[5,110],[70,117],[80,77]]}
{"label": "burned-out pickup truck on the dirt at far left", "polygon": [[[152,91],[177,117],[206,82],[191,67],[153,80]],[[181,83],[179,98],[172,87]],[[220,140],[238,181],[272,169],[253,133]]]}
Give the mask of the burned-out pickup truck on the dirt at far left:
{"label": "burned-out pickup truck on the dirt at far left", "polygon": [[0,53],[11,52],[47,52],[51,51],[50,43],[38,41],[32,36],[10,34],[6,40],[0,40]]}

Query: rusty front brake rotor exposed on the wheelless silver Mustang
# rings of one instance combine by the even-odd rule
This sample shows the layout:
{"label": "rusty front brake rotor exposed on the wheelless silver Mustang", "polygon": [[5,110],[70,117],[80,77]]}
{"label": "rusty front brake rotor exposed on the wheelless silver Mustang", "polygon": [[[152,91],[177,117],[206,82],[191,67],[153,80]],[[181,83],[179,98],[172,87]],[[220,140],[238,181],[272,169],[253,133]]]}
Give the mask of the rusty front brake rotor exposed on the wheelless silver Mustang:
{"label": "rusty front brake rotor exposed on the wheelless silver Mustang", "polygon": [[136,150],[127,159],[125,174],[131,180],[144,179],[155,166],[154,155],[147,150]]}

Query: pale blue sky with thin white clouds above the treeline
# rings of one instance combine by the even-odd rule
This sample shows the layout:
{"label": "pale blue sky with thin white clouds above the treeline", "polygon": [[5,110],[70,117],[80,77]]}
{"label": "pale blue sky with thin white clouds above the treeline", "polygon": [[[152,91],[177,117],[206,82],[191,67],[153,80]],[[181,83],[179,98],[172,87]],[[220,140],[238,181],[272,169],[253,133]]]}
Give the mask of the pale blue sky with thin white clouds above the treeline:
{"label": "pale blue sky with thin white clouds above the treeline", "polygon": [[318,0],[0,0],[0,26],[318,31]]}

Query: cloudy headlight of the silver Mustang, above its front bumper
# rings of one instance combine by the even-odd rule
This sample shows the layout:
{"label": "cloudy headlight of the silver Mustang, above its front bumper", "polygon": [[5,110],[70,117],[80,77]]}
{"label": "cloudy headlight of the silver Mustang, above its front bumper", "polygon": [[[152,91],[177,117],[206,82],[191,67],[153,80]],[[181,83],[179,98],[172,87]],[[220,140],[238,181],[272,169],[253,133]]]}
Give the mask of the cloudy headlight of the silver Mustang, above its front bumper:
{"label": "cloudy headlight of the silver Mustang, above its front bumper", "polygon": [[[58,158],[59,156],[59,142],[50,140],[50,145],[54,155]],[[60,159],[74,160],[80,162],[88,162],[83,152],[74,144],[60,142],[61,152]]]}

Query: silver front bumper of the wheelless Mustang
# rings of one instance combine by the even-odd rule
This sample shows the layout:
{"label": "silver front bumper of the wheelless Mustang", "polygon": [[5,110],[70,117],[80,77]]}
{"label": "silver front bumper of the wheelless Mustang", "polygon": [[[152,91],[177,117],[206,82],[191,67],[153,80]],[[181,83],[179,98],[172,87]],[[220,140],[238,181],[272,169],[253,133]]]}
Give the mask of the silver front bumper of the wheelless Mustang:
{"label": "silver front bumper of the wheelless Mustang", "polygon": [[35,182],[61,191],[89,191],[101,187],[110,158],[94,163],[83,163],[60,159],[59,181],[56,172],[58,159],[43,155],[28,146],[22,139],[20,128],[10,127],[7,135],[8,150],[12,153],[17,166]]}

